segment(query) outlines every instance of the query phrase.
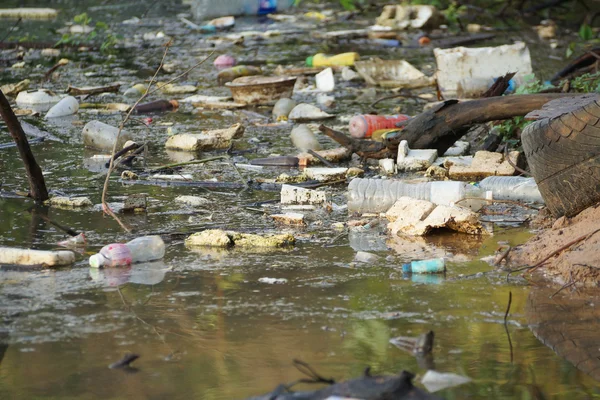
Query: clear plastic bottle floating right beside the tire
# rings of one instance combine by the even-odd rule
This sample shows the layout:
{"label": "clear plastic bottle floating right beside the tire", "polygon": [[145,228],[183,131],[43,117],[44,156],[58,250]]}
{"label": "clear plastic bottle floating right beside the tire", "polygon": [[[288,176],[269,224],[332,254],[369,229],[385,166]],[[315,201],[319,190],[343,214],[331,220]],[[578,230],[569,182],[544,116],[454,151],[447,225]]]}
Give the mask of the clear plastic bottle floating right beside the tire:
{"label": "clear plastic bottle floating right beside the tire", "polygon": [[490,176],[479,182],[482,190],[493,193],[494,199],[544,203],[537,183],[523,176]]}

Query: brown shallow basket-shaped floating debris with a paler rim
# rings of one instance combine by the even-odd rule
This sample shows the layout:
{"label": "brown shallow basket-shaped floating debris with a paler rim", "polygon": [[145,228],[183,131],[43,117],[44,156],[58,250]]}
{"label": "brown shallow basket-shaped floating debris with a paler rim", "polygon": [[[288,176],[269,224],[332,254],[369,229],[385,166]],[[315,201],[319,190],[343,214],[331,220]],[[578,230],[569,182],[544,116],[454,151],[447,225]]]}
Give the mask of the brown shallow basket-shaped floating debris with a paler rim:
{"label": "brown shallow basket-shaped floating debris with a paler rim", "polygon": [[243,104],[273,104],[294,92],[295,76],[243,76],[225,84],[233,100]]}

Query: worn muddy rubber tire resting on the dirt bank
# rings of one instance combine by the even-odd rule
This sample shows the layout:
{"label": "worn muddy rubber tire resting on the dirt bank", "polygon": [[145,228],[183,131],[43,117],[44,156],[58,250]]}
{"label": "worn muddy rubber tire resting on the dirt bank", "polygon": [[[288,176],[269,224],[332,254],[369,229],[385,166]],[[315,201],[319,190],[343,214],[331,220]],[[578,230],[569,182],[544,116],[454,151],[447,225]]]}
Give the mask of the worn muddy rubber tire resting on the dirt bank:
{"label": "worn muddy rubber tire resting on the dirt bank", "polygon": [[555,217],[600,202],[600,95],[553,100],[521,135],[531,172]]}

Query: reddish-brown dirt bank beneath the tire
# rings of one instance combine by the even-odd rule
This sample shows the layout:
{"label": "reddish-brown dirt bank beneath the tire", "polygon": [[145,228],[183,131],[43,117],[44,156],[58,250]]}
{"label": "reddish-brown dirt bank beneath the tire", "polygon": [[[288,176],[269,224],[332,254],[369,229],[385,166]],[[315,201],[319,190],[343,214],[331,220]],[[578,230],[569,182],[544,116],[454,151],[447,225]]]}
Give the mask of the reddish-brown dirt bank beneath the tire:
{"label": "reddish-brown dirt bank beneath the tire", "polygon": [[563,285],[600,286],[600,204],[551,221],[548,216],[538,220],[546,228],[511,251],[510,266],[535,266],[556,252],[535,273]]}

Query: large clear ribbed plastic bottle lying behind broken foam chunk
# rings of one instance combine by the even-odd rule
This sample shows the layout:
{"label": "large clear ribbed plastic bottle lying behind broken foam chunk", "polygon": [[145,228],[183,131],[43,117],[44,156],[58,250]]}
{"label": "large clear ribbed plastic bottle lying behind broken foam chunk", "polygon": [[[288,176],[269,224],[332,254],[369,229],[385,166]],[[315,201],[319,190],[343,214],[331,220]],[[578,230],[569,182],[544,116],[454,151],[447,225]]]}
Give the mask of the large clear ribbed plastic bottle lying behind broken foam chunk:
{"label": "large clear ribbed plastic bottle lying behind broken foam chunk", "polygon": [[348,185],[348,211],[382,213],[390,209],[400,197],[427,200],[438,205],[451,205],[465,198],[460,205],[473,210],[481,208],[485,193],[466,182],[439,181],[406,183],[391,179],[354,178]]}

